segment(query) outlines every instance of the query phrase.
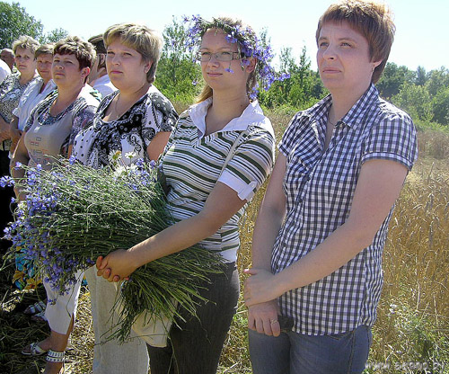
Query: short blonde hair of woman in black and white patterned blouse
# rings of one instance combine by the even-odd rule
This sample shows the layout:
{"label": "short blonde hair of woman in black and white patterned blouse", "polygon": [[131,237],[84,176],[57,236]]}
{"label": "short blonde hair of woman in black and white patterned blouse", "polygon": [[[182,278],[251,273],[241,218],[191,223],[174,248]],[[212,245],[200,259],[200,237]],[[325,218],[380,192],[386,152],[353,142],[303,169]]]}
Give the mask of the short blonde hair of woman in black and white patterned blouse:
{"label": "short blonde hair of woman in black and white patterned blouse", "polygon": [[146,73],[146,80],[148,83],[153,83],[156,76],[157,63],[163,51],[162,37],[156,31],[144,25],[119,23],[110,26],[103,34],[106,48],[117,39],[123,45],[140,53],[145,62],[151,62],[150,70]]}

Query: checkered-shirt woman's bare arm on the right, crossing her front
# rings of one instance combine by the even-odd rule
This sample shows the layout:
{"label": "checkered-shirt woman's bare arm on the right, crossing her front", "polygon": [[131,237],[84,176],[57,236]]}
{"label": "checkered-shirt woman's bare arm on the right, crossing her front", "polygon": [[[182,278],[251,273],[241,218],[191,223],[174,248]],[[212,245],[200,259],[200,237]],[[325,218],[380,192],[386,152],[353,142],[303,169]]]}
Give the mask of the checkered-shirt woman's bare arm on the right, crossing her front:
{"label": "checkered-shirt woman's bare arm on the right, crossing her front", "polygon": [[348,263],[373,241],[394,201],[407,168],[389,160],[370,160],[361,169],[348,220],[301,260],[276,275],[251,269],[245,285],[247,306],[279,297],[287,290],[321,280]]}

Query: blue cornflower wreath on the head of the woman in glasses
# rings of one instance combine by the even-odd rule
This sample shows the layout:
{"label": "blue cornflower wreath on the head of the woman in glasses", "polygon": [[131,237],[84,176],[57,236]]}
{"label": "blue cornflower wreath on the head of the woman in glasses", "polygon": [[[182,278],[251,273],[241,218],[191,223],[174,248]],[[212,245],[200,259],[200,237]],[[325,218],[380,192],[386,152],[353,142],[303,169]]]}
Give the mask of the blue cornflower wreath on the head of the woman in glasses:
{"label": "blue cornflower wreath on the head of the woman in glasses", "polygon": [[[237,43],[238,53],[242,56],[242,69],[250,64],[250,61],[247,58],[256,58],[257,63],[254,69],[253,78],[256,82],[251,88],[251,92],[248,93],[251,100],[257,98],[260,86],[265,91],[268,91],[273,82],[283,81],[290,77],[290,75],[286,73],[276,73],[274,67],[270,64],[271,59],[274,57],[271,46],[269,44],[263,45],[256,36],[256,33],[250,27],[241,27],[239,25],[231,26],[217,18],[213,18],[212,21],[209,22],[198,15],[192,15],[191,17],[185,16],[183,21],[189,23],[189,28],[186,31],[185,46],[190,52],[196,52],[195,49],[199,48],[201,38],[207,30],[218,29],[225,32],[225,38],[228,42]],[[226,71],[233,73],[233,70],[230,67],[228,67]]]}

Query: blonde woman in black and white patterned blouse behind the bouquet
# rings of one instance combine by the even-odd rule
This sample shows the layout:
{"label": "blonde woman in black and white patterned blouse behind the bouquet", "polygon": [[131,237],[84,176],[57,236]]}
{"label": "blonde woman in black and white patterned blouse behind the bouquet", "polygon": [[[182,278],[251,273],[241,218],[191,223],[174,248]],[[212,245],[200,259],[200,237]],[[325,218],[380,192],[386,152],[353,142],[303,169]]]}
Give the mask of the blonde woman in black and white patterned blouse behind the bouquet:
{"label": "blonde woman in black and white patterned blouse behind the bouquet", "polygon": [[[126,163],[139,158],[157,160],[178,119],[172,103],[153,85],[162,39],[143,25],[123,23],[105,31],[103,40],[110,81],[119,91],[103,99],[92,126],[75,138],[74,156],[94,168],[109,165],[109,156],[116,151],[134,154],[132,159],[123,157]],[[85,272],[85,277],[95,334],[93,373],[146,374],[148,354],[139,337],[121,345],[116,340],[101,342],[114,331],[110,310],[117,299],[117,288],[97,277],[94,267]]]}

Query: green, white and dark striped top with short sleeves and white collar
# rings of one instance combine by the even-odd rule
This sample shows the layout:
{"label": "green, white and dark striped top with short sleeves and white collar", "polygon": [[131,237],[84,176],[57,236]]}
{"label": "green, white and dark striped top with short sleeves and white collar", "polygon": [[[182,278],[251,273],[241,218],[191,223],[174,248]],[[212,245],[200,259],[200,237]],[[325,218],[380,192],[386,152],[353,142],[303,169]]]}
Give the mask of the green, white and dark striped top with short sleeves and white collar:
{"label": "green, white and dark striped top with short sleeves and white collar", "polygon": [[[200,102],[180,115],[163,152],[162,170],[170,187],[168,207],[176,222],[198,214],[217,181],[236,191],[240,199],[251,200],[273,166],[274,133],[259,103],[251,102],[224,129],[204,136],[211,102]],[[222,173],[225,158],[242,131]],[[199,245],[222,251],[226,261],[235,261],[240,244],[238,221],[244,208]]]}

